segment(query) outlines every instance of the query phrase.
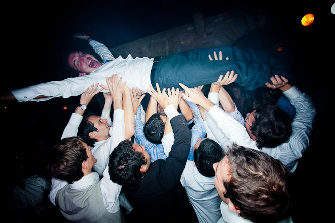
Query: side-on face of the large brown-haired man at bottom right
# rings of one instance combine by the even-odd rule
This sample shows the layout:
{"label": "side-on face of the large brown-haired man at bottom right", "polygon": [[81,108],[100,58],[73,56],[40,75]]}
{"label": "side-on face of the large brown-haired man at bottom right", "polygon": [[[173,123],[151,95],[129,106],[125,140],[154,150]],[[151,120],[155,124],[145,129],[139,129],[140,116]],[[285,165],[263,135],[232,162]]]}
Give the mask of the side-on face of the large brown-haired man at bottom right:
{"label": "side-on face of the large brown-haired man at bottom right", "polygon": [[229,198],[224,197],[224,194],[226,193],[226,188],[223,185],[224,182],[228,182],[231,179],[228,157],[225,156],[220,162],[214,163],[213,169],[215,171],[214,176],[215,189],[219,194],[221,200],[223,200],[226,204],[228,204]]}

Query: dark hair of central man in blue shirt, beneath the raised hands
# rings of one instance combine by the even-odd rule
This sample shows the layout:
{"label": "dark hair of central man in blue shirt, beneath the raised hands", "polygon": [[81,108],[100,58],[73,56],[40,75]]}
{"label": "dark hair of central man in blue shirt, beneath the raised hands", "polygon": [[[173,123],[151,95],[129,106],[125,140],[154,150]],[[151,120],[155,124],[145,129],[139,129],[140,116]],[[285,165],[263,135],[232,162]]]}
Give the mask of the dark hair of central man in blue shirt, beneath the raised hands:
{"label": "dark hair of central man in blue shirt, beneath the raised hands", "polygon": [[153,114],[144,125],[144,135],[149,142],[161,144],[165,123],[158,113]]}

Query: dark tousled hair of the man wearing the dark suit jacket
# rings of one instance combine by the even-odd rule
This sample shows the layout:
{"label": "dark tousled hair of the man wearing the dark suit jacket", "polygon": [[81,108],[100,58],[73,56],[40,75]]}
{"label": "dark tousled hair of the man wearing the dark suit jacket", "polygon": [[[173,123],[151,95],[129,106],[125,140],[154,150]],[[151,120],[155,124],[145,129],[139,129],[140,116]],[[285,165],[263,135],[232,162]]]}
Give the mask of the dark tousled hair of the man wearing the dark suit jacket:
{"label": "dark tousled hair of the man wearing the dark suit jacket", "polygon": [[141,166],[147,164],[142,153],[136,152],[129,140],[124,140],[113,150],[109,156],[110,179],[122,186],[132,186],[143,178]]}

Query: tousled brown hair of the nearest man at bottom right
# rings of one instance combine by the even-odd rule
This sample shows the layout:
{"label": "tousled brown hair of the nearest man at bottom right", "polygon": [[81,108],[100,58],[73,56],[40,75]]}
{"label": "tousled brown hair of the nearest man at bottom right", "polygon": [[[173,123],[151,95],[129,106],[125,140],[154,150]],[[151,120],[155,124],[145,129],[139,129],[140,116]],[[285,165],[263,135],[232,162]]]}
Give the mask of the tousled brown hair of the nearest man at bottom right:
{"label": "tousled brown hair of the nearest man at bottom right", "polygon": [[233,145],[225,155],[231,179],[225,197],[252,222],[279,222],[290,215],[289,172],[268,154]]}

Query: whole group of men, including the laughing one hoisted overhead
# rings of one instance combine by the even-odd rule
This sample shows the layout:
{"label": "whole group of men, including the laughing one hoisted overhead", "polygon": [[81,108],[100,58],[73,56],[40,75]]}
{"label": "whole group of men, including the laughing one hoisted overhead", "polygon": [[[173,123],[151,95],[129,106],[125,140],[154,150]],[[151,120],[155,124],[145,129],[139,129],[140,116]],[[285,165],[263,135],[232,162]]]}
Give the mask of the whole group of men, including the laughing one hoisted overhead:
{"label": "whole group of men, including the laughing one hoisted overhead", "polygon": [[[103,44],[77,37],[103,62],[72,52],[68,65],[80,77],[6,95],[40,101],[81,94],[49,165],[49,198],[64,218],[124,222],[122,206],[146,222],[292,222],[289,175],[309,144],[316,114],[309,97],[285,78],[282,60],[236,47],[114,58]],[[233,82],[280,89],[295,118],[263,102],[244,118],[223,87]],[[204,84],[211,86],[207,97]],[[101,116],[84,118],[100,92]]]}

